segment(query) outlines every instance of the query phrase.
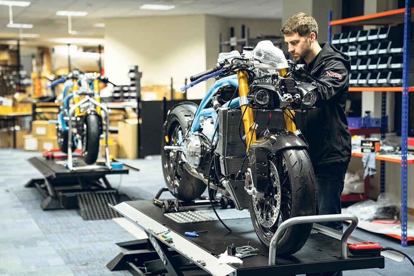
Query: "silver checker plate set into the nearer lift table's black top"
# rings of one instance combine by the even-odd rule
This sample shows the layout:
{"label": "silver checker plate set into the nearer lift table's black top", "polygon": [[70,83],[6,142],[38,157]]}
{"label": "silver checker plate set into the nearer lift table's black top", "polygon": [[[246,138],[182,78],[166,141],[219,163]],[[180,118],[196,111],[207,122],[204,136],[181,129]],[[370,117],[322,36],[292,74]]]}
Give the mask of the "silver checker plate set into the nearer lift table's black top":
{"label": "silver checker plate set into the nearer lift table's black top", "polygon": [[[239,211],[237,209],[219,209],[216,210],[220,219],[222,220],[234,220],[234,219],[248,219],[250,213],[247,210]],[[164,214],[167,218],[177,223],[190,223],[190,222],[209,222],[218,221],[216,214],[213,210],[201,210],[201,211],[187,211],[178,213]]]}

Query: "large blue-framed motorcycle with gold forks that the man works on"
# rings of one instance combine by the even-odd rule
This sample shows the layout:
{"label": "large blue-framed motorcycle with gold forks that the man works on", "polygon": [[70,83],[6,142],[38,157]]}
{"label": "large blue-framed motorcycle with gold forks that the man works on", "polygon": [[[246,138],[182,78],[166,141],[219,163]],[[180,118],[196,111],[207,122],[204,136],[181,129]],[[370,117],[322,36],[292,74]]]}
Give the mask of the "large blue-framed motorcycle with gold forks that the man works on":
{"label": "large blue-framed motorcycle with gold forks that the man works on", "polygon": [[[200,105],[175,105],[163,125],[161,156],[169,191],[182,201],[196,199],[206,187],[210,196],[220,192],[236,209],[250,211],[266,248],[280,223],[316,212],[313,167],[295,111],[314,107],[317,87],[288,78],[292,74],[306,71],[288,63],[270,41],[243,47],[241,55],[221,53],[214,68],[190,78],[189,86],[216,78]],[[311,228],[288,228],[278,254],[300,250]]]}

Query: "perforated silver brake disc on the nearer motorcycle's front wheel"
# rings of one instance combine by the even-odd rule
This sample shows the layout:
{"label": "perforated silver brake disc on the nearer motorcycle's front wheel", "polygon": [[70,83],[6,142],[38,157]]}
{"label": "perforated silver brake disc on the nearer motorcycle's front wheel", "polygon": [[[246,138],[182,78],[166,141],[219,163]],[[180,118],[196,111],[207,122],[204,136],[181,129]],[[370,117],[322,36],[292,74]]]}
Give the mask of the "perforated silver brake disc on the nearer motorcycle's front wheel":
{"label": "perforated silver brake disc on the nearer motorcycle's front wheel", "polygon": [[272,188],[270,193],[266,193],[262,198],[252,198],[253,209],[257,222],[266,228],[272,227],[278,222],[278,216],[281,209],[281,182],[279,173],[273,162],[270,163],[270,184]]}

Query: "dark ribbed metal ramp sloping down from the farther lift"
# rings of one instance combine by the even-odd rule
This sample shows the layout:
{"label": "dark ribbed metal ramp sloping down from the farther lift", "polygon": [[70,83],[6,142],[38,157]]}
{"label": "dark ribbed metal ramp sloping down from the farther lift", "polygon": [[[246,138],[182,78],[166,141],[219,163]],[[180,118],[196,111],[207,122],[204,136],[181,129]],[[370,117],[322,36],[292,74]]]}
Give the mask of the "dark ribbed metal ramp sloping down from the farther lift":
{"label": "dark ribbed metal ramp sloping down from the farther lift", "polygon": [[85,221],[110,220],[122,217],[108,206],[108,203],[111,205],[118,203],[115,192],[79,193],[76,198],[78,199],[81,217]]}

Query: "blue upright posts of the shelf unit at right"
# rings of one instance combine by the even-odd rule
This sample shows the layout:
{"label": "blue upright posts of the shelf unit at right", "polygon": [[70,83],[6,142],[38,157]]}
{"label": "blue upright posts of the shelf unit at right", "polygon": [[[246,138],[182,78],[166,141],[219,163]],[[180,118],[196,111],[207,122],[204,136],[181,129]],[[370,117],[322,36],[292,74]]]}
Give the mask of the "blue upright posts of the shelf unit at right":
{"label": "blue upright posts of the shelf unit at right", "polygon": [[[328,13],[328,36],[331,38],[332,11]],[[408,92],[409,92],[409,38],[411,26],[411,0],[405,0],[404,8],[404,42],[402,67],[401,97],[401,246],[407,242],[407,138],[408,138]],[[383,165],[383,164],[381,164]],[[383,166],[381,166],[383,167]],[[383,182],[385,177],[381,177]],[[381,192],[385,191],[385,183],[381,183]]]}

